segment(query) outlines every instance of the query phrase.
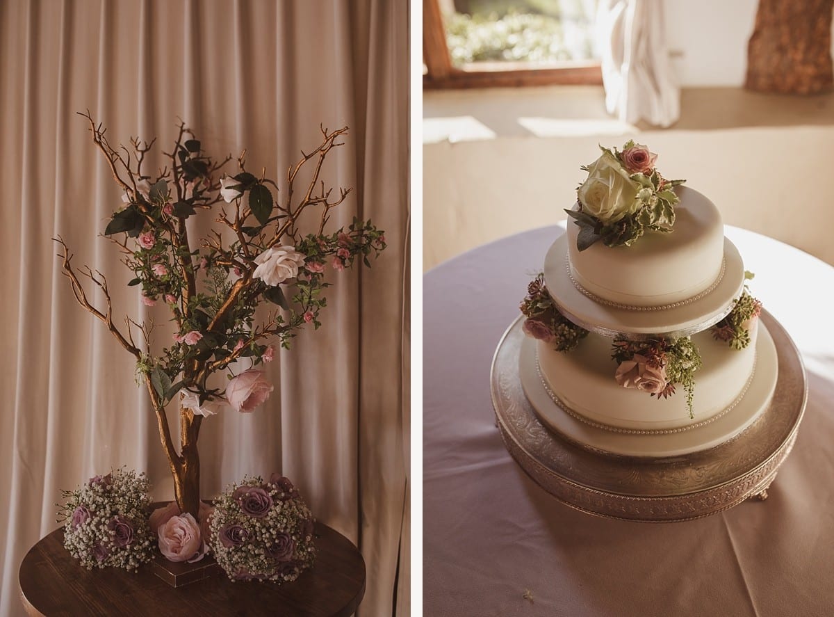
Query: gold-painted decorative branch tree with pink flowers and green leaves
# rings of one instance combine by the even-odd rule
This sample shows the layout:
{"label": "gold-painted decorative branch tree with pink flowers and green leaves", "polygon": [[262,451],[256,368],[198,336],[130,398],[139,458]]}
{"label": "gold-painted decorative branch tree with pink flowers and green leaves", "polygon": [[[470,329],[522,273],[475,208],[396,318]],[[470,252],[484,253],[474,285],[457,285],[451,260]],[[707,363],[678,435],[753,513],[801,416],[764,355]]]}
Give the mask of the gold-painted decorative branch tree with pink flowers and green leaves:
{"label": "gold-painted decorative branch tree with pink flowers and green leaves", "polygon": [[[238,159],[239,173],[217,178],[230,157],[216,163],[203,154],[200,142],[184,124],[179,125],[173,150],[165,154],[170,169],[151,177],[143,172],[145,155],[153,141],[131,139],[131,148],[113,148],[105,137],[102,124],[88,119],[93,143],[98,147],[124,190],[124,207],[113,214],[104,230],[120,252],[123,263],[135,277],[128,283],[142,287],[144,304],[163,301],[177,325],[173,345],[152,351],[153,322],[139,323],[129,317],[124,326],[113,321],[113,301],[107,280],[101,272],[85,266],[73,267],[73,255],[59,236],[63,274],[68,276],[78,304],[107,326],[116,340],[136,358],[138,374],[148,388],[156,414],[159,438],[173,474],[178,507],[198,518],[199,455],[197,440],[203,417],[222,407],[251,412],[269,397],[273,387],[264,372],[254,367],[270,362],[276,338],[281,346],[300,327],[312,323],[320,326],[319,311],[325,306],[324,282],[327,267],[334,271],[361,260],[370,266],[369,255],[384,250],[384,233],[370,221],[354,221],[347,229],[325,233],[330,212],[343,203],[350,189],[339,195],[319,180],[324,160],[348,129],[321,129],[323,140],[287,172],[283,200],[274,200],[273,180],[249,173],[244,154]],[[155,139],[154,139],[155,141]],[[295,194],[299,172],[305,165],[314,169],[310,180]],[[331,196],[333,195],[333,196]],[[186,220],[199,211],[225,206],[216,221],[230,230],[229,240],[217,230],[193,245],[188,237]],[[318,206],[319,225],[314,234],[302,235],[299,219],[304,212]],[[104,296],[105,307],[90,301],[82,285],[89,279]],[[294,292],[288,301],[285,291]],[[262,301],[276,307],[266,321],[255,324],[255,308]],[[134,338],[134,332],[141,340]],[[252,367],[234,375],[237,362],[248,358]],[[211,387],[208,378],[217,372],[229,372],[225,388]],[[179,404],[179,449],[174,445],[165,406],[175,397]]]}

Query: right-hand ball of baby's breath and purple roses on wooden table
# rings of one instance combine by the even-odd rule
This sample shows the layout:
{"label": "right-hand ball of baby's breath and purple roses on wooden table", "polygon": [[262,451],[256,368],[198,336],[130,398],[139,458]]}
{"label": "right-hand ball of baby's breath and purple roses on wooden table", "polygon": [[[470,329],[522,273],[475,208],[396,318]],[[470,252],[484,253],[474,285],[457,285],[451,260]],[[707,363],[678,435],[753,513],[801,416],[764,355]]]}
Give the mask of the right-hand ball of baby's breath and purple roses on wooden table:
{"label": "right-hand ball of baby's breath and purple roses on wooden table", "polygon": [[211,517],[209,544],[229,579],[299,578],[313,564],[313,515],[289,481],[274,473],[244,478],[220,495]]}

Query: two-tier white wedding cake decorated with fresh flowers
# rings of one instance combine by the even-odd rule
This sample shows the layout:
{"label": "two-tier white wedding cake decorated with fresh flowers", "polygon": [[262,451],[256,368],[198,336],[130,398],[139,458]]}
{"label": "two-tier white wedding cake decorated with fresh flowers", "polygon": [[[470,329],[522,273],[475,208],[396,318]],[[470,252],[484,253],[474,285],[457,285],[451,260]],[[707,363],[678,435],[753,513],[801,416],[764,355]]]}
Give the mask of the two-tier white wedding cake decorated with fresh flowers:
{"label": "two-tier white wedding cake decorated with fresh flowers", "polygon": [[738,436],[773,396],[776,346],[705,195],[633,142],[603,149],[521,304],[526,397],[584,448],[668,458]]}

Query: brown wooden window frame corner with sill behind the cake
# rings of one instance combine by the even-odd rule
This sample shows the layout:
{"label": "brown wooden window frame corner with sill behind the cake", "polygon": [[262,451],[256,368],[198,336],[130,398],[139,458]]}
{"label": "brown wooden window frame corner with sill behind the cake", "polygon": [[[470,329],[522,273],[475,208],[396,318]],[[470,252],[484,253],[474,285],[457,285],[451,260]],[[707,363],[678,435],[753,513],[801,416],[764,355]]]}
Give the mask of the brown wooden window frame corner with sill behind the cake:
{"label": "brown wooden window frame corner with sill behind the cake", "polygon": [[[602,85],[598,62],[532,64],[479,62],[452,66],[440,0],[423,0],[424,89],[515,88],[545,85]],[[535,68],[534,68],[535,67]]]}

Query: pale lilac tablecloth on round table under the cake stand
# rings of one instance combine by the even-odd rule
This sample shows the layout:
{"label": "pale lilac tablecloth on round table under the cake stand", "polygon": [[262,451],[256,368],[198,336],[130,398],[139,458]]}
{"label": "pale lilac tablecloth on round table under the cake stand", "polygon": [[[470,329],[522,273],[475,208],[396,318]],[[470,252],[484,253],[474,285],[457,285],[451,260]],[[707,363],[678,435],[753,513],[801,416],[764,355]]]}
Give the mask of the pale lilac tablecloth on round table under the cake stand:
{"label": "pale lilac tablecloth on round table under the cake stand", "polygon": [[727,227],[757,274],[751,291],[806,363],[796,446],[765,502],[687,523],[629,523],[545,493],[495,427],[495,346],[563,231],[515,235],[425,275],[425,614],[834,614],[834,268]]}

